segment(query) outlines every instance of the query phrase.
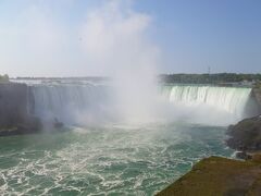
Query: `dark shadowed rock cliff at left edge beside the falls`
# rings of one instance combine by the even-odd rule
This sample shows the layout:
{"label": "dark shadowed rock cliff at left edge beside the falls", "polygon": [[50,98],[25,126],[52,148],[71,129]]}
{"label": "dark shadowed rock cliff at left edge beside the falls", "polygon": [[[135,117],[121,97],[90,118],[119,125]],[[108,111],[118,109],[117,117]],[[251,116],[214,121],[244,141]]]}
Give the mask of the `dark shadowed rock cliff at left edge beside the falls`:
{"label": "dark shadowed rock cliff at left edge beside the falls", "polygon": [[40,121],[30,115],[30,93],[25,84],[0,84],[0,136],[33,133]]}

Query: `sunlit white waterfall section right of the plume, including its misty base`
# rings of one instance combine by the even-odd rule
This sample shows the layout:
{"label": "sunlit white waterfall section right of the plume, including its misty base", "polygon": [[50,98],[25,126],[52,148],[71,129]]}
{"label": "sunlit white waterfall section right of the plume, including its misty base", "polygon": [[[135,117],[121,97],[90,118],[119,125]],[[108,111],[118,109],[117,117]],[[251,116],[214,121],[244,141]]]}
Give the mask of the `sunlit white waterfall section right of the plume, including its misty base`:
{"label": "sunlit white waterfall section right of the plume, including its misty base", "polygon": [[[174,85],[164,86],[162,94],[179,110],[192,111],[190,115],[197,110],[196,115],[202,115],[204,119],[214,117],[213,123],[221,119],[221,124],[234,123],[246,118],[246,107],[251,101],[251,88],[244,87]],[[224,120],[222,115],[228,119]]]}

